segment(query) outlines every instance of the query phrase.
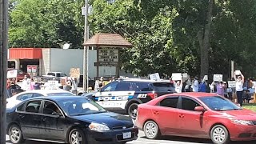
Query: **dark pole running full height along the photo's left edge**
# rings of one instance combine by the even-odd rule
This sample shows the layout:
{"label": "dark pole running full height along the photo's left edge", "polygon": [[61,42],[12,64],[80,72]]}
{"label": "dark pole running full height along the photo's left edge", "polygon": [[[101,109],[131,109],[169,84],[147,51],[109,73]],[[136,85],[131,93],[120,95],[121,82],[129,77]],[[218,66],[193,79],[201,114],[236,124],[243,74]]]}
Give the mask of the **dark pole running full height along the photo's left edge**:
{"label": "dark pole running full height along the photo's left edge", "polygon": [[6,143],[8,0],[0,0],[0,143]]}

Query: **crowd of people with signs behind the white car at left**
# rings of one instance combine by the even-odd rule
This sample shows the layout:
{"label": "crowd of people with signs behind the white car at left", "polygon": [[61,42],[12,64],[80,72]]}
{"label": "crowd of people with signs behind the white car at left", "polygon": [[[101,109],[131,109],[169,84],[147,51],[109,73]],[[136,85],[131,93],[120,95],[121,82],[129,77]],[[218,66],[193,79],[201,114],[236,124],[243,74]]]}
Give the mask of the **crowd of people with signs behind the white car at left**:
{"label": "crowd of people with signs behind the white car at left", "polygon": [[[50,81],[57,82],[55,78]],[[7,78],[6,82],[6,92],[7,98],[18,94],[19,92],[26,91],[26,90],[54,90],[54,89],[62,89],[66,91],[70,91],[74,94],[77,94],[78,90],[78,78],[62,78],[60,80],[60,86],[51,86],[50,81],[42,82],[38,78],[27,78],[25,75],[22,79],[20,85],[18,85],[16,78]],[[58,84],[58,82],[57,82]]]}

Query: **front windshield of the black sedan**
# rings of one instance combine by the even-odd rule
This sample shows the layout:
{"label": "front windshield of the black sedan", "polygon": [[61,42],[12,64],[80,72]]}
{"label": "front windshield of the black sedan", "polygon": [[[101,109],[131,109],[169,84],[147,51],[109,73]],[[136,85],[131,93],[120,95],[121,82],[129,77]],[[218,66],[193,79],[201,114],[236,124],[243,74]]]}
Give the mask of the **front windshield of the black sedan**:
{"label": "front windshield of the black sedan", "polygon": [[89,98],[65,98],[58,101],[58,105],[67,115],[78,116],[86,114],[104,113],[106,110]]}

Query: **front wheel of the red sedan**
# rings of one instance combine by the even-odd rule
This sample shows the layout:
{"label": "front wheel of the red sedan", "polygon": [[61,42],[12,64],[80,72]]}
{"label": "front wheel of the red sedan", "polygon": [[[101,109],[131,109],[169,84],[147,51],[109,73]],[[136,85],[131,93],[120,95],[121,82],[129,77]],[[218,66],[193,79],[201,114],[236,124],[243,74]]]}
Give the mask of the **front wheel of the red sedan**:
{"label": "front wheel of the red sedan", "polygon": [[230,143],[230,134],[225,126],[216,125],[210,130],[210,139],[214,144]]}

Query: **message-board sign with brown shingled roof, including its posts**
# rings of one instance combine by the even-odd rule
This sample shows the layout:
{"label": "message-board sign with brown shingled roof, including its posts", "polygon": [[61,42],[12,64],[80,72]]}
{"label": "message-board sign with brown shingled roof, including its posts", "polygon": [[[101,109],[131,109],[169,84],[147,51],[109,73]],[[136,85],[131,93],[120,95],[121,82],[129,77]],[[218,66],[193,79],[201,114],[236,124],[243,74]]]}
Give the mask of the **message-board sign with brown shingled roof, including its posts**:
{"label": "message-board sign with brown shingled roof, including its posts", "polygon": [[83,46],[93,46],[97,49],[97,77],[99,66],[116,66],[116,76],[119,77],[119,49],[130,48],[133,45],[126,41],[120,34],[95,34],[92,38],[83,43]]}

